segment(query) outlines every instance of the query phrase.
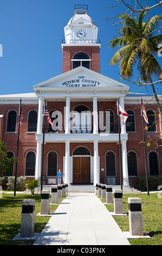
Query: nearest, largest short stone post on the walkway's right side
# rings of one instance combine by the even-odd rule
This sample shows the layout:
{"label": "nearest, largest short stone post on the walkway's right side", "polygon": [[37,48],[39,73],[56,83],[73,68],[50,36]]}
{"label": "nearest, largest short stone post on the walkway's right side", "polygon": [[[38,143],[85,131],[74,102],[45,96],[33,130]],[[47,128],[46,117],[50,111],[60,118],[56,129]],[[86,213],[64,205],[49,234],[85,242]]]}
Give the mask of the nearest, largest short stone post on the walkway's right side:
{"label": "nearest, largest short stone post on the walkway's right side", "polygon": [[128,198],[129,233],[144,235],[141,198]]}

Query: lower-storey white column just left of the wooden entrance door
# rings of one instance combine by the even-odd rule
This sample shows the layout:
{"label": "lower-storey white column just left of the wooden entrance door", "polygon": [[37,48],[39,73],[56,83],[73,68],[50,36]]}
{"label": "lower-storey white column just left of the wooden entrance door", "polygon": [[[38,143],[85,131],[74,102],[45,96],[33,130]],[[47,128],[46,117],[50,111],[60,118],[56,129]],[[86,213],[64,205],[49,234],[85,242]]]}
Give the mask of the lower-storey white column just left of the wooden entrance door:
{"label": "lower-storey white column just left of the wooden entrance door", "polygon": [[70,185],[70,141],[65,141],[64,183]]}

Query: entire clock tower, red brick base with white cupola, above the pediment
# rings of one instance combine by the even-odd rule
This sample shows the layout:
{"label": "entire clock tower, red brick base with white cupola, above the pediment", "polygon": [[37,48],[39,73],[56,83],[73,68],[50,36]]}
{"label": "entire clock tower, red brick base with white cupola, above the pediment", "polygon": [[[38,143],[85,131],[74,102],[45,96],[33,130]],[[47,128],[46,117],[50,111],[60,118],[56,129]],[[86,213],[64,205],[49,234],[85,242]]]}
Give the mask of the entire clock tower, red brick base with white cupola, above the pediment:
{"label": "entire clock tower, red brick base with white cupola, above the pediment", "polygon": [[100,40],[98,27],[88,16],[88,5],[75,4],[74,16],[64,27],[65,39],[62,40],[62,72],[77,66],[100,73]]}

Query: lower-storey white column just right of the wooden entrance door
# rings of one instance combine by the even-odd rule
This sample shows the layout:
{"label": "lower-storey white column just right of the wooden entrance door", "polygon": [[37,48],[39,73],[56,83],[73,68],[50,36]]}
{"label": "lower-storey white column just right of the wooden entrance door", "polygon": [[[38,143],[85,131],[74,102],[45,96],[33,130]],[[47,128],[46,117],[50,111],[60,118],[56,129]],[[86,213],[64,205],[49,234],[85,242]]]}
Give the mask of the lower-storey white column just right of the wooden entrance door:
{"label": "lower-storey white column just right of the wooden entrance door", "polygon": [[94,144],[94,186],[99,183],[99,151],[98,151],[98,141],[93,141]]}

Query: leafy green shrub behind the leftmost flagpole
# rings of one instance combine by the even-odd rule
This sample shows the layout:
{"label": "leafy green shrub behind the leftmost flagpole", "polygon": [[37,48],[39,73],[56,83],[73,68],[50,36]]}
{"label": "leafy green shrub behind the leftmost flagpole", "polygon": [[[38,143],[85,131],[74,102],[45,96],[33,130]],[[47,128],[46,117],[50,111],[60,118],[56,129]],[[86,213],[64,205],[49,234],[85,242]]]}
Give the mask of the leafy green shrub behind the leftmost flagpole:
{"label": "leafy green shrub behind the leftmost flagpole", "polygon": [[[17,177],[16,190],[19,190],[19,191],[24,190],[25,180],[26,180],[26,178],[24,176]],[[15,189],[15,176],[8,177],[7,189],[8,190],[14,190]]]}

